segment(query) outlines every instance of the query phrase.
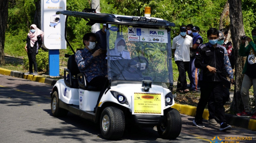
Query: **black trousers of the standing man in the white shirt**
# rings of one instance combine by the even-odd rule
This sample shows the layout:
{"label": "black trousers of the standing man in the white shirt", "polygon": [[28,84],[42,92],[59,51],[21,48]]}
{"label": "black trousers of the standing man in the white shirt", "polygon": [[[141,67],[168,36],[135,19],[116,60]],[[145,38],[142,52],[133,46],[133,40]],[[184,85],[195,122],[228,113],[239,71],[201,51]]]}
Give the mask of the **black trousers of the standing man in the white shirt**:
{"label": "black trousers of the standing man in the white shirt", "polygon": [[184,91],[187,88],[186,72],[189,70],[189,62],[183,62],[181,60],[175,61],[179,71],[179,78],[177,83],[177,90]]}

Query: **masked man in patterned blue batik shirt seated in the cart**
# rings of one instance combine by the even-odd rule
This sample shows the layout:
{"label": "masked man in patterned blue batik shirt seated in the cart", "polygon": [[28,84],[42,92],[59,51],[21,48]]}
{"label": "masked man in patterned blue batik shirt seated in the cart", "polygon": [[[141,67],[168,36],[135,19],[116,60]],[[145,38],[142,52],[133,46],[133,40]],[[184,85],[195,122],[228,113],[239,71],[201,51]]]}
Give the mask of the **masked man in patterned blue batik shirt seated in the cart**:
{"label": "masked man in patterned blue batik shirt seated in the cart", "polygon": [[[83,37],[83,44],[85,48],[75,53],[75,62],[79,71],[85,74],[88,85],[94,86],[100,91],[100,99],[108,86],[105,55],[102,54],[102,49],[95,49],[96,36],[94,33],[86,33]],[[98,104],[95,104],[97,107]]]}

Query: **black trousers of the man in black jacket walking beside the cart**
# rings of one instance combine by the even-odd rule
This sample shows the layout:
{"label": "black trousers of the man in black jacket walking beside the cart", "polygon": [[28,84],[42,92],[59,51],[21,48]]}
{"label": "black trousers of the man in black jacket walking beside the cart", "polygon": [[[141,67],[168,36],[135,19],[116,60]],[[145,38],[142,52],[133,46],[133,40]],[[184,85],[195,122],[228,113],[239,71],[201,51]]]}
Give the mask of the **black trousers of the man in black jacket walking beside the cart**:
{"label": "black trousers of the man in black jacket walking beside the cart", "polygon": [[[215,108],[219,117],[219,122],[226,122],[225,118],[225,108],[223,106],[223,82],[207,82],[200,81],[201,85],[201,95],[200,100],[196,107],[196,117],[195,120],[202,120],[202,114],[204,113],[204,108],[209,101],[213,98],[215,103]],[[213,93],[213,94],[211,94]]]}

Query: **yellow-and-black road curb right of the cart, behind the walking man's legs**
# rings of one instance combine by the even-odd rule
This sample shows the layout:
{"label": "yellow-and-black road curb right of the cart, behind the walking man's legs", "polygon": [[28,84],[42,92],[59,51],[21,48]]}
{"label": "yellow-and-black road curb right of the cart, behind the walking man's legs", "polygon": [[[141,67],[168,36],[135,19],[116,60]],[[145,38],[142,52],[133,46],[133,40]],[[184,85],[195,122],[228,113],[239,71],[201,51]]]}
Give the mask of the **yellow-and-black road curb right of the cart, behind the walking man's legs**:
{"label": "yellow-and-black road curb right of the cart, behind the walking man's legs", "polygon": [[[196,115],[196,107],[194,106],[174,104],[172,108],[177,109],[181,114],[189,115],[192,117],[195,117]],[[202,117],[203,119],[208,120],[209,111],[204,110]],[[230,114],[225,114],[225,117],[229,125],[256,130],[256,120]]]}

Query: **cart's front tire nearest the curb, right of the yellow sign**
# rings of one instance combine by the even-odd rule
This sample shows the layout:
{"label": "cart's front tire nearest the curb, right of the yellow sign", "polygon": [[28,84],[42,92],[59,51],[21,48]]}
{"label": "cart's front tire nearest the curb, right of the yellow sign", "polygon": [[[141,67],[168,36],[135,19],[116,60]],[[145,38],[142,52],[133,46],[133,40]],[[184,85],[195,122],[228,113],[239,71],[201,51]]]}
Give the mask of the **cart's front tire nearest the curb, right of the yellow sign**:
{"label": "cart's front tire nearest the curb, right of the yellow sign", "polygon": [[164,139],[175,139],[181,133],[181,114],[176,109],[171,108],[167,112],[165,122],[157,126],[157,132]]}

